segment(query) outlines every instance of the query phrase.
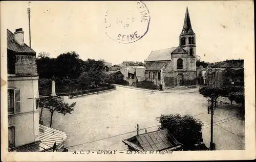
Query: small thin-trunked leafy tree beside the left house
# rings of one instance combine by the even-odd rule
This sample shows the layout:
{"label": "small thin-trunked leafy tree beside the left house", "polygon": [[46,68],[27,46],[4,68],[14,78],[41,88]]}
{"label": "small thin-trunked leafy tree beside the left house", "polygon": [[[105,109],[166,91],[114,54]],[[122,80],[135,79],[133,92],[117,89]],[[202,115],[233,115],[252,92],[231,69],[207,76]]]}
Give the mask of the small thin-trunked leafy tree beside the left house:
{"label": "small thin-trunked leafy tree beside the left house", "polygon": [[52,127],[52,119],[54,112],[58,112],[65,116],[67,113],[71,114],[71,112],[74,111],[73,107],[75,105],[75,102],[69,105],[68,103],[62,102],[53,97],[44,97],[41,98],[39,101],[39,107],[41,107],[41,109],[47,109],[51,113],[50,127]]}

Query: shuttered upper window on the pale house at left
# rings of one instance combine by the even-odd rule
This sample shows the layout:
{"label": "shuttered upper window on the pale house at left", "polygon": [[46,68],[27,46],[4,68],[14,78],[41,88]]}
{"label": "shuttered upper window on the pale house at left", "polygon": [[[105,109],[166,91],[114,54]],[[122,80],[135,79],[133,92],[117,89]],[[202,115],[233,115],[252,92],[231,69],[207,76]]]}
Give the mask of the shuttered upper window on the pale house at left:
{"label": "shuttered upper window on the pale house at left", "polygon": [[20,90],[8,90],[8,115],[20,113]]}

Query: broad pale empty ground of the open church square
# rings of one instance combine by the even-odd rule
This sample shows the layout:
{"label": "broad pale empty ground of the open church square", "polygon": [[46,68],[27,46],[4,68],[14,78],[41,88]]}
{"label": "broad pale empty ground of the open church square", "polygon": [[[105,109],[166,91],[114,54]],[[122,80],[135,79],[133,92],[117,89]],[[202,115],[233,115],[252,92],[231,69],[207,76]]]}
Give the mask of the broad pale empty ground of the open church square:
{"label": "broad pale empty ground of the open church square", "polygon": [[[72,114],[55,114],[53,128],[68,134],[65,146],[75,150],[126,150],[123,139],[157,130],[156,117],[161,114],[191,115],[203,123],[203,140],[210,142],[210,115],[206,98],[197,93],[152,93],[116,87],[116,90],[67,100],[76,102]],[[43,112],[44,125],[49,126],[50,114]],[[233,109],[218,107],[214,115],[214,143],[216,150],[245,149],[244,120]],[[134,132],[131,132],[134,131]],[[131,133],[126,133],[131,132]],[[140,130],[139,133],[144,133]],[[125,133],[125,134],[123,134]],[[121,136],[116,136],[123,134]],[[113,137],[115,136],[115,137]],[[104,140],[100,140],[104,139]],[[100,140],[100,141],[98,141]]]}

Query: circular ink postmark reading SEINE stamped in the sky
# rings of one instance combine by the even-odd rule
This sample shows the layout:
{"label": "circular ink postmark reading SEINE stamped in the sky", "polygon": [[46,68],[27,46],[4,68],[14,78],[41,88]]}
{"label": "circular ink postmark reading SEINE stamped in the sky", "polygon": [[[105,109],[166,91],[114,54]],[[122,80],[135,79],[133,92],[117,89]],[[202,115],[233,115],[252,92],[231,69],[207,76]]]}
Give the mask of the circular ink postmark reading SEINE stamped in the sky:
{"label": "circular ink postmark reading SEINE stamped in the sky", "polygon": [[105,14],[105,33],[119,43],[132,43],[148,31],[150,13],[141,1],[115,3]]}

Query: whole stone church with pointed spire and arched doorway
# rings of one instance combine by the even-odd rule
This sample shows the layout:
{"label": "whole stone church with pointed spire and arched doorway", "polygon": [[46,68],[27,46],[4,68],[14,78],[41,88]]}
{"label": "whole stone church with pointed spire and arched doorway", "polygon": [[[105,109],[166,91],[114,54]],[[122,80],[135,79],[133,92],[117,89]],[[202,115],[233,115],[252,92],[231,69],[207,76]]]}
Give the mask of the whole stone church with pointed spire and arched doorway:
{"label": "whole stone church with pointed spire and arched doorway", "polygon": [[164,87],[196,85],[196,34],[188,9],[179,38],[179,46],[154,50],[145,60],[145,77]]}

